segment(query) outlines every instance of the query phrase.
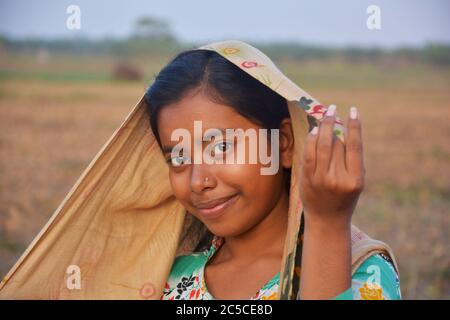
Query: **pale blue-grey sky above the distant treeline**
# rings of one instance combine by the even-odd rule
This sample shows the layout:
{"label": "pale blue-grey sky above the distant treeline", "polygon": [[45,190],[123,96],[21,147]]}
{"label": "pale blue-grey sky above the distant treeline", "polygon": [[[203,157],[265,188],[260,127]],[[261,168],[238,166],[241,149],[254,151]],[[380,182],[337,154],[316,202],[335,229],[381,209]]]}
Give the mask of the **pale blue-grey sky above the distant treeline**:
{"label": "pale blue-grey sky above the distant treeline", "polygon": [[[81,9],[69,30],[66,8]],[[381,30],[366,26],[366,9],[381,10]],[[125,37],[142,16],[169,22],[182,41],[294,40],[320,45],[396,47],[450,43],[446,0],[0,0],[0,34],[9,37]]]}

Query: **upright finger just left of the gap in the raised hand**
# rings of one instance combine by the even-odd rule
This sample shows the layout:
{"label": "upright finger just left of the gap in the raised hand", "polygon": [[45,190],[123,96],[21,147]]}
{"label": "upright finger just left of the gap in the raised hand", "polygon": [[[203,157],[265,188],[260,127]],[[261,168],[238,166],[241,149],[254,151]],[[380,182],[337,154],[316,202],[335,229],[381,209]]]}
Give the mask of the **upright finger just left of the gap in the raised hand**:
{"label": "upright finger just left of the gap in the raised hand", "polygon": [[317,140],[317,163],[315,175],[326,175],[329,170],[333,149],[333,128],[336,106],[330,105],[325,118],[320,122]]}

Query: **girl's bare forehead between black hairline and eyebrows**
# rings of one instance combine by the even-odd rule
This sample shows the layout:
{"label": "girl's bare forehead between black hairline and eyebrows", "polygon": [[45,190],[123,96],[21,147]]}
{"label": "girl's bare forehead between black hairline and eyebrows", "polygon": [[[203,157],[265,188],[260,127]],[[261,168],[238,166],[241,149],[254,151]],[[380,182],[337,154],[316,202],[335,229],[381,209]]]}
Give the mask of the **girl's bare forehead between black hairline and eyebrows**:
{"label": "girl's bare forehead between black hairline and eyebrows", "polygon": [[170,141],[176,129],[194,130],[194,121],[202,121],[209,128],[260,128],[232,107],[211,101],[203,94],[187,96],[177,103],[165,106],[158,114],[158,130],[162,141]]}

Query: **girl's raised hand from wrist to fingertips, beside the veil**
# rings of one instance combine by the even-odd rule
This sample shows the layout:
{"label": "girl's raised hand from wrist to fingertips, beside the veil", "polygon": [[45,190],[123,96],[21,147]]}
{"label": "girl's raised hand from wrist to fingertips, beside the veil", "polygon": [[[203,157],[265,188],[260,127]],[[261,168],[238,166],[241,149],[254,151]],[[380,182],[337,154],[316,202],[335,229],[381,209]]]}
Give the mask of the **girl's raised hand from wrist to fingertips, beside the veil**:
{"label": "girl's raised hand from wrist to fingertips, beside the veil", "polygon": [[300,193],[305,218],[349,223],[364,188],[361,121],[350,109],[345,145],[333,134],[336,106],[308,134],[300,170]]}

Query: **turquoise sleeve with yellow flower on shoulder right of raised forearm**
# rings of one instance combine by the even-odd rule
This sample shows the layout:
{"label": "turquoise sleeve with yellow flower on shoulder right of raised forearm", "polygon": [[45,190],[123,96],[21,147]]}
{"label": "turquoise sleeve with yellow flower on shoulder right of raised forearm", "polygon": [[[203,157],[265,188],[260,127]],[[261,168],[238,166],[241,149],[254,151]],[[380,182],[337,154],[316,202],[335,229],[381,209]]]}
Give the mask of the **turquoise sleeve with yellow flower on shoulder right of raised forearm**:
{"label": "turquoise sleeve with yellow flower on shoulder right of raised forearm", "polygon": [[400,300],[400,280],[383,254],[367,258],[352,276],[352,287],[334,300]]}

